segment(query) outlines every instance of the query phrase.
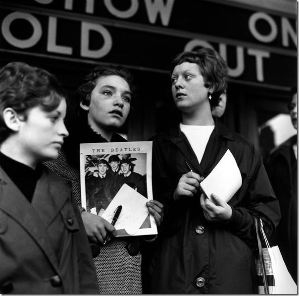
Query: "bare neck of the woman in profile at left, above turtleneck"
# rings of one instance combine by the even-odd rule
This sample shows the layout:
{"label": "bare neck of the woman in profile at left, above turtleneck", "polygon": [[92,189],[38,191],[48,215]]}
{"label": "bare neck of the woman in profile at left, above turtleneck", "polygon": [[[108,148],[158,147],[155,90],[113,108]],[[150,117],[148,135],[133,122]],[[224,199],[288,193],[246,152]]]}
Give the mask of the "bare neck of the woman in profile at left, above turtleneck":
{"label": "bare neck of the woman in profile at left, above turtleneck", "polygon": [[4,140],[0,146],[0,152],[34,170],[38,164],[37,160],[33,159],[31,155],[28,155],[26,151],[22,149],[22,145],[18,143],[13,135]]}

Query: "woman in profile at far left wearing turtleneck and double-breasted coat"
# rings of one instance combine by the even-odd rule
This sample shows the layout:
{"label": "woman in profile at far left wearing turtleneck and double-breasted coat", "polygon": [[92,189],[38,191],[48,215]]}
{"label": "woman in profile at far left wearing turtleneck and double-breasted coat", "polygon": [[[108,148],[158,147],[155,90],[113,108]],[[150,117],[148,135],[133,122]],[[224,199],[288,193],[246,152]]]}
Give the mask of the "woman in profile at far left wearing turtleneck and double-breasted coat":
{"label": "woman in profile at far left wearing turtleneck and double-breasted coat", "polygon": [[0,69],[0,294],[97,294],[70,184],[46,168],[68,136],[66,95],[48,71]]}

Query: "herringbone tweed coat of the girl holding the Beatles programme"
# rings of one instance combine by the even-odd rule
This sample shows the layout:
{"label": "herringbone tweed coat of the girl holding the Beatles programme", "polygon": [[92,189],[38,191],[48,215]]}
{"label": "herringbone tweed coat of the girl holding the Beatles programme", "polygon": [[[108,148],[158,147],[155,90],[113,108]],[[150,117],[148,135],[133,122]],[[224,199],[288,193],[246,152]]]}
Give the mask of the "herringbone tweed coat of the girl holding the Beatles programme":
{"label": "herringbone tweed coat of the girl holding the Beatles programme", "polygon": [[[62,179],[72,183],[73,196],[81,208],[80,173],[71,167],[63,150],[56,160],[45,165]],[[131,256],[125,246],[129,238],[113,238],[100,248],[100,254],[94,258],[97,270],[100,294],[142,294],[141,254]]]}

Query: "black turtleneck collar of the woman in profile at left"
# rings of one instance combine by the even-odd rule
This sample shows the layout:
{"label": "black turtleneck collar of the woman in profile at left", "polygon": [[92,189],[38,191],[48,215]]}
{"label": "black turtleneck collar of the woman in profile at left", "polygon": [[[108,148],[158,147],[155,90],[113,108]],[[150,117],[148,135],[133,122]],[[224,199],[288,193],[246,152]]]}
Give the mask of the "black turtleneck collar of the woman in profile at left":
{"label": "black turtleneck collar of the woman in profile at left", "polygon": [[29,202],[32,201],[34,190],[43,174],[42,165],[32,169],[0,152],[0,165],[9,178],[15,183]]}

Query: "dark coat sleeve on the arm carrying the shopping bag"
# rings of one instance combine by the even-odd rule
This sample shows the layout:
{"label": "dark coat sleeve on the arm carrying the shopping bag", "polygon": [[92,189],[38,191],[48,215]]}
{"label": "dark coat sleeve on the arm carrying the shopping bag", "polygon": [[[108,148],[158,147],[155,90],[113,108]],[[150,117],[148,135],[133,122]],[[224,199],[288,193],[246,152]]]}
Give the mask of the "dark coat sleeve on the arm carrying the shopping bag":
{"label": "dark coat sleeve on the arm carrying the shopping bag", "polygon": [[270,240],[280,221],[280,208],[257,151],[254,151],[252,169],[253,174],[244,197],[247,200],[246,206],[232,207],[232,217],[226,222],[225,228],[249,244],[256,245],[253,216],[262,219],[265,234]]}

